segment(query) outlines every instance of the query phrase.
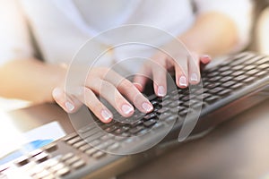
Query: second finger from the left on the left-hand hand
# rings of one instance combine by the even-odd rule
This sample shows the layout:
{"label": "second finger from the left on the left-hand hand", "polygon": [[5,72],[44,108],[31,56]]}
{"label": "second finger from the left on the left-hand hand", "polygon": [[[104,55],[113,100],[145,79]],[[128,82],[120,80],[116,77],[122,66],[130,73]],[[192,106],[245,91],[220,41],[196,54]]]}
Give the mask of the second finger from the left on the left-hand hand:
{"label": "second finger from the left on the left-hand hand", "polygon": [[83,88],[83,95],[81,95],[79,99],[91,109],[91,112],[96,115],[101,122],[109,123],[113,119],[112,113],[100,102],[90,89]]}

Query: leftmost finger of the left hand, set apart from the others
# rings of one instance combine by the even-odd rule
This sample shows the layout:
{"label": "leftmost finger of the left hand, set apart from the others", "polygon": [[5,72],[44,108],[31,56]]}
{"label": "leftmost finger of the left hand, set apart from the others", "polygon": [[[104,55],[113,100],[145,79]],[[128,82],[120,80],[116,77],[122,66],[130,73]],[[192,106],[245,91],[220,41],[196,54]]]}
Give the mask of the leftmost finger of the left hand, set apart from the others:
{"label": "leftmost finger of the left hand, set apart from the others", "polygon": [[65,93],[65,90],[61,88],[55,88],[52,91],[52,96],[55,99],[56,103],[62,107],[67,113],[74,113],[77,111],[80,107],[82,107],[82,103]]}

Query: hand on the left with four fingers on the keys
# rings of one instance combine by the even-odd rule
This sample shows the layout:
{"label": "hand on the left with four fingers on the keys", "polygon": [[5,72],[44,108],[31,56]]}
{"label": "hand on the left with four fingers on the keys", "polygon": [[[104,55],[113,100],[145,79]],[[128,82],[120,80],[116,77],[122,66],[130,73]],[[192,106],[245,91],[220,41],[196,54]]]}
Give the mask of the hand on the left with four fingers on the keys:
{"label": "hand on the left with four fingers on the keys", "polygon": [[[150,101],[137,90],[131,81],[126,80],[117,72],[108,68],[92,68],[85,84],[78,87],[81,91],[78,95],[67,94],[64,87],[64,85],[61,85],[61,87],[53,90],[52,93],[53,98],[55,98],[60,107],[63,107],[68,113],[74,113],[84,104],[103,123],[109,123],[113,115],[108,110],[108,107],[105,107],[100,102],[97,95],[105,98],[111,106],[117,109],[120,115],[125,117],[134,114],[134,107],[137,107],[143,113],[149,113],[153,110]],[[134,104],[134,107],[129,101]]]}

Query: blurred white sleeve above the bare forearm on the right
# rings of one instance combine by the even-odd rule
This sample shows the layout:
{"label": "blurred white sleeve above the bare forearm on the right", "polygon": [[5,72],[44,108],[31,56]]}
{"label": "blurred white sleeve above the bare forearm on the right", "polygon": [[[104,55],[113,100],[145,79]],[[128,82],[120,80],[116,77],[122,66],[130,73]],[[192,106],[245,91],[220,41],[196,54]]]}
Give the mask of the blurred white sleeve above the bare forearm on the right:
{"label": "blurred white sleeve above the bare forearm on the right", "polygon": [[220,12],[228,15],[236,24],[239,40],[232,52],[242,50],[250,40],[253,18],[251,0],[195,0],[197,13]]}

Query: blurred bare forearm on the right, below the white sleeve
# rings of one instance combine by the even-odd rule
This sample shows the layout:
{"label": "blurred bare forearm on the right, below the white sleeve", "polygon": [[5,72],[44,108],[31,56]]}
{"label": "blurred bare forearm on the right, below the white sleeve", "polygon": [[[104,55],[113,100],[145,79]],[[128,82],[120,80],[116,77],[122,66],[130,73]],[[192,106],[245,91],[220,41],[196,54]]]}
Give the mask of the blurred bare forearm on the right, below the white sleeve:
{"label": "blurred bare forearm on the right, below the white sleeve", "polygon": [[222,13],[204,13],[197,17],[194,26],[179,37],[189,48],[199,54],[221,55],[237,44],[236,26]]}

